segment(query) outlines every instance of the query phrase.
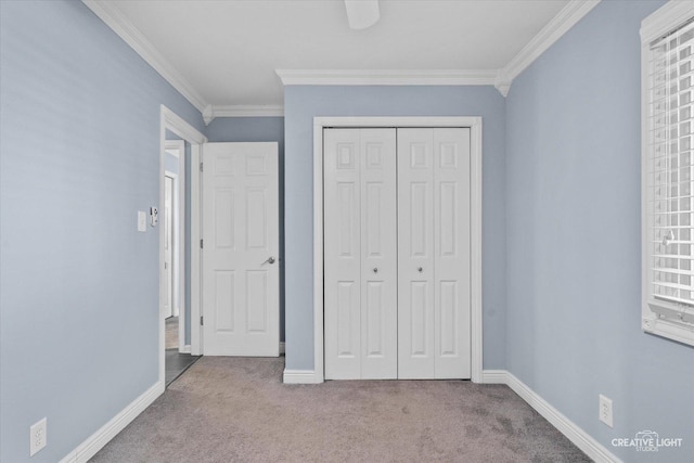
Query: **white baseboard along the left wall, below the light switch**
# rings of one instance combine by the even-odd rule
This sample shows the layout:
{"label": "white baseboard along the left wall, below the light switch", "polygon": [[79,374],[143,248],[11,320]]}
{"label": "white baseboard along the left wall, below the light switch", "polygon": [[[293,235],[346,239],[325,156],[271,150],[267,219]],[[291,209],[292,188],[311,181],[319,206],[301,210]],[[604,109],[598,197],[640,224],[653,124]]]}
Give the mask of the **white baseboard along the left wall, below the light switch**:
{"label": "white baseboard along the left wall, below the light switch", "polygon": [[140,397],[134,399],[128,407],[123,409],[108,423],[89,436],[75,450],[69,452],[60,463],[87,463],[106,443],[120,433],[132,420],[144,411],[162,394],[164,394],[164,383],[157,382]]}

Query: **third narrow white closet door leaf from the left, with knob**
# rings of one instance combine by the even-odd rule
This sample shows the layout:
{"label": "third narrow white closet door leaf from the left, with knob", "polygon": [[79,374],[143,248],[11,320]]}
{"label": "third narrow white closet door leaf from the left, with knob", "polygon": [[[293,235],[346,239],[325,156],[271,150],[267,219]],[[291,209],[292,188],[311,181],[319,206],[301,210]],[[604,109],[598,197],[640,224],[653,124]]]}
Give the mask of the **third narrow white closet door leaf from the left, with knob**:
{"label": "third narrow white closet door leaf from the left, with knob", "polygon": [[398,377],[433,378],[434,130],[398,129]]}

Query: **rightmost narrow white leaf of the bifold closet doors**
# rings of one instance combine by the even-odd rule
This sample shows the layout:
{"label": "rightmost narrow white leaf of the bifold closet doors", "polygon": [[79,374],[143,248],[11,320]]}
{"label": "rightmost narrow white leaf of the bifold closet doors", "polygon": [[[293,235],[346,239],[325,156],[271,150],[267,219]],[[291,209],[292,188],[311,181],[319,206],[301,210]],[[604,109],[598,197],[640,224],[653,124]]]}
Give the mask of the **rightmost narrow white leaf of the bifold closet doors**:
{"label": "rightmost narrow white leaf of the bifold closet doors", "polygon": [[434,130],[436,378],[470,378],[470,129]]}

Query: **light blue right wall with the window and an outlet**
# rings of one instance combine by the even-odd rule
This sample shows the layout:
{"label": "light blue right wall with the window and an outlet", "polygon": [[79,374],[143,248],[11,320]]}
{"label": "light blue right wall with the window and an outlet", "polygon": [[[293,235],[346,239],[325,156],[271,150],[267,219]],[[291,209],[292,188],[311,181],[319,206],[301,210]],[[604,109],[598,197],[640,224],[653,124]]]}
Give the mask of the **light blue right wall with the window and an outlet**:
{"label": "light blue right wall with the window and an outlet", "polygon": [[[507,368],[629,462],[694,455],[694,349],[640,322],[639,28],[660,4],[603,1],[506,101]],[[611,443],[644,429],[685,448]]]}

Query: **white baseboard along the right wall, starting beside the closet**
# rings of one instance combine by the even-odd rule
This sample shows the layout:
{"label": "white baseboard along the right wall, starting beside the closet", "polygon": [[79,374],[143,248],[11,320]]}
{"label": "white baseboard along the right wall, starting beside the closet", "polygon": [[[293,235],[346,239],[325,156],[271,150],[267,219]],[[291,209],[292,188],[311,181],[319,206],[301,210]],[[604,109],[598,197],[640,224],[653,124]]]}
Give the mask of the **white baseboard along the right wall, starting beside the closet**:
{"label": "white baseboard along the right wall, starting beside the closet", "polygon": [[567,419],[547,400],[506,370],[484,370],[483,383],[505,384],[576,447],[597,463],[621,463],[614,453]]}

